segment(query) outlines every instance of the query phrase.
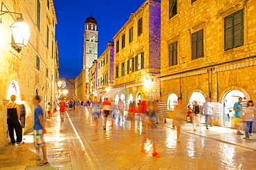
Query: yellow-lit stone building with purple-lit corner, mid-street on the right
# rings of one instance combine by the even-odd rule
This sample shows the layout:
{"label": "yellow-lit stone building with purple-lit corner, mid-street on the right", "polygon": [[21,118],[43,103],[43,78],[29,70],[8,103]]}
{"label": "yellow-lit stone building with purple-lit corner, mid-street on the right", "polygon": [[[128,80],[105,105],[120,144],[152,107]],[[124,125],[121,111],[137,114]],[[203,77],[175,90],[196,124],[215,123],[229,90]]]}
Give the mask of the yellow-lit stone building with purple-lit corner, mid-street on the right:
{"label": "yellow-lit stone building with purple-lit corner, mid-street on the right", "polygon": [[126,105],[160,95],[160,19],[161,2],[145,1],[113,36],[113,88],[118,92],[111,96]]}

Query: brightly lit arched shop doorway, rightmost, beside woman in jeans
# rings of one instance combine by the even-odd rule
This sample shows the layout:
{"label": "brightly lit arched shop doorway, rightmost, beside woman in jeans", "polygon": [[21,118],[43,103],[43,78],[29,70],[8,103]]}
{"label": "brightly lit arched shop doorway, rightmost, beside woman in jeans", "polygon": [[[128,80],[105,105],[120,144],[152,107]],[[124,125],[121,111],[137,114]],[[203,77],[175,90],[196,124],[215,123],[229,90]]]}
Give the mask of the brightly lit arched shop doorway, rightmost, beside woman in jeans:
{"label": "brightly lit arched shop doorway, rightmost, beside woman in jeans", "polygon": [[231,127],[230,118],[235,116],[235,111],[233,107],[234,104],[238,102],[239,97],[243,98],[241,104],[243,105],[243,107],[246,107],[246,96],[243,92],[240,92],[239,90],[231,90],[223,96],[223,126]]}

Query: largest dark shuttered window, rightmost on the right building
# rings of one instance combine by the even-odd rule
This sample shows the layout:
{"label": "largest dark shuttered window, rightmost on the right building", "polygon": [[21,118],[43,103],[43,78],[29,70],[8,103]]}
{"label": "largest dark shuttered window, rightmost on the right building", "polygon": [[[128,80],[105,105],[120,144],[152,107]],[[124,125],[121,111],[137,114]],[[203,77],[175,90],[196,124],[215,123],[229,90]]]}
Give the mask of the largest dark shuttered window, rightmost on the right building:
{"label": "largest dark shuttered window, rightmost on the right building", "polygon": [[[240,15],[240,16],[239,16]],[[239,28],[237,28],[236,31],[236,24],[235,24],[235,16],[239,16],[240,22],[237,23],[237,25],[240,25]],[[228,21],[230,21],[230,25],[227,28]],[[236,12],[233,12],[232,14],[229,14],[226,17],[223,17],[223,31],[224,31],[224,50],[230,50],[236,47],[241,47],[244,45],[244,8],[237,10]],[[237,32],[237,35],[236,35]],[[240,35],[239,35],[239,34]],[[230,34],[230,39],[228,39],[228,35]],[[236,41],[236,38],[241,36],[241,38]],[[232,42],[232,44],[228,44],[228,42]]]}

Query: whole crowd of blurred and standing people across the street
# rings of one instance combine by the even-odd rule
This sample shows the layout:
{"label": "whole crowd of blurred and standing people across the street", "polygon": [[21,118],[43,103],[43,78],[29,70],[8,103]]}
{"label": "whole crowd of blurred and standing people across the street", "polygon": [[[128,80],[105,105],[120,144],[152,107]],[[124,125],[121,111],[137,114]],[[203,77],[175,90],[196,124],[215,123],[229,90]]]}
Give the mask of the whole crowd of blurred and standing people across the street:
{"label": "whole crowd of blurred and standing people across the street", "polygon": [[[24,98],[24,97],[21,97]],[[10,102],[7,105],[7,124],[10,136],[10,144],[21,144],[22,142],[22,128],[25,126],[26,107],[24,104],[17,105],[15,103],[16,96],[10,96]],[[35,105],[34,111],[34,142],[37,151],[37,159],[39,158],[39,149],[42,148],[43,160],[39,162],[38,166],[48,164],[46,156],[46,142],[44,141],[44,134],[46,134],[45,127],[45,115],[44,109],[39,104],[41,99],[39,96],[33,98],[33,104]],[[245,131],[244,139],[250,139],[253,131],[253,122],[255,120],[256,107],[253,105],[253,101],[249,100],[246,107],[241,104],[242,98],[239,98],[238,102],[235,103],[233,109],[235,111],[235,129],[237,129],[238,135],[244,135],[241,133],[241,129]],[[129,120],[130,131],[134,133],[134,122],[135,120],[141,121],[143,125],[143,136],[141,152],[146,153],[145,142],[150,140],[153,146],[152,156],[160,157],[159,153],[156,152],[156,145],[158,143],[158,134],[161,131],[167,118],[167,103],[163,100],[138,100],[138,103],[131,101],[128,108],[125,107],[125,103],[119,99],[118,102],[115,100],[109,101],[109,98],[104,98],[101,102],[97,96],[93,97],[93,100],[76,100],[70,99],[65,100],[62,98],[57,103],[60,109],[60,118],[64,121],[64,114],[68,110],[74,110],[76,113],[79,112],[80,106],[88,106],[91,113],[95,130],[98,130],[98,121],[100,115],[103,118],[103,130],[107,129],[107,118],[110,117],[111,121],[108,123],[109,126],[113,126],[114,121],[118,119],[119,122]],[[51,103],[46,105],[46,111],[48,118],[52,118],[53,107]],[[127,115],[125,115],[127,110]],[[173,122],[172,125],[176,129],[176,141],[180,142],[181,126],[185,123],[193,123],[192,127],[196,131],[196,127],[201,126],[201,117],[205,116],[205,128],[209,129],[210,120],[214,115],[214,107],[210,101],[210,98],[205,98],[203,105],[198,105],[197,101],[194,101],[192,107],[190,105],[183,105],[182,98],[178,98],[178,103],[174,107],[173,111]],[[211,123],[211,126],[213,124]],[[14,130],[16,132],[16,140],[14,136]]]}

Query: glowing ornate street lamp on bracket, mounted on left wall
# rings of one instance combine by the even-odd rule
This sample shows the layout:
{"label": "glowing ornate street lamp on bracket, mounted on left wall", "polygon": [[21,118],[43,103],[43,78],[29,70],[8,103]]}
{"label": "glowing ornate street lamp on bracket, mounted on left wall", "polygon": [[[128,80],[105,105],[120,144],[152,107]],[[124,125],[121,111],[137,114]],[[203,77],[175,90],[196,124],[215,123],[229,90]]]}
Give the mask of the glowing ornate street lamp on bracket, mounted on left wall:
{"label": "glowing ornate street lamp on bracket, mounted on left wall", "polygon": [[20,47],[26,47],[28,43],[28,39],[30,37],[30,30],[28,28],[28,25],[22,18],[22,14],[17,12],[4,11],[4,10],[0,10],[0,12],[2,12],[0,15],[6,14],[6,13],[20,15],[20,17],[17,17],[16,22],[10,25],[10,29],[12,31],[12,36],[15,41],[15,44]]}

